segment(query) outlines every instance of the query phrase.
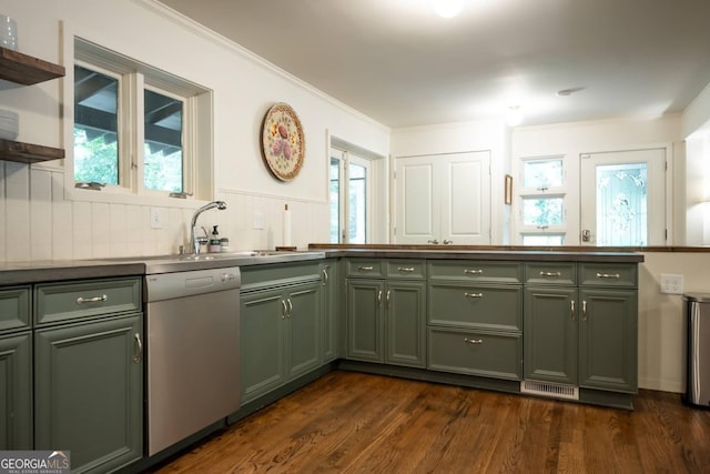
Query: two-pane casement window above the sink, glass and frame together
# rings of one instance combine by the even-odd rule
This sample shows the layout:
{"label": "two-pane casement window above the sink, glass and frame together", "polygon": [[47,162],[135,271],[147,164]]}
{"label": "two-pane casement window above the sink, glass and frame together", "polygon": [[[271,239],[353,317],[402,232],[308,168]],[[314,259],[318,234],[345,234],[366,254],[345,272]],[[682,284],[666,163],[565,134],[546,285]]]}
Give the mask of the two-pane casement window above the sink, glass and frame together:
{"label": "two-pane casement window above the sink, glass and frame together", "polygon": [[212,199],[211,91],[81,38],[74,59],[75,188]]}

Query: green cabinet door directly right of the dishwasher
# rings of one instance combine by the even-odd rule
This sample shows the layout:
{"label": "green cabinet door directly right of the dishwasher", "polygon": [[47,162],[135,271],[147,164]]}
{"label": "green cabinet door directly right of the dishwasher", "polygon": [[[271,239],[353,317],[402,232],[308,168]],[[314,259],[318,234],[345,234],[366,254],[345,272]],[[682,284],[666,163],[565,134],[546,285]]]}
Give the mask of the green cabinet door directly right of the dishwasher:
{"label": "green cabinet door directly right of the dishwasher", "polygon": [[242,294],[240,303],[240,367],[242,404],[284,381],[282,290]]}

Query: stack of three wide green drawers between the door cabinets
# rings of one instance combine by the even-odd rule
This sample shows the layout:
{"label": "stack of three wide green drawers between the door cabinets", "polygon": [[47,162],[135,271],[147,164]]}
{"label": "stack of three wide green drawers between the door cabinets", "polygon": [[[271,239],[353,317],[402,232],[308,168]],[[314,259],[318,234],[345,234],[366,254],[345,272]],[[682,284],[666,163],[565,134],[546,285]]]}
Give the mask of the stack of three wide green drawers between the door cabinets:
{"label": "stack of three wide green drawers between the door cabinets", "polygon": [[523,376],[523,271],[517,261],[428,263],[428,369]]}

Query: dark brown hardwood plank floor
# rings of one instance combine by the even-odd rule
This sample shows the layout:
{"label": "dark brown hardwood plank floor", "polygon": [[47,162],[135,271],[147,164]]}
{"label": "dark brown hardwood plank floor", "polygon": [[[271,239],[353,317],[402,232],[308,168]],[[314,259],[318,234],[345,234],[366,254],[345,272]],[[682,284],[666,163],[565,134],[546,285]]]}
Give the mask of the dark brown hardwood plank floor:
{"label": "dark brown hardwood plank floor", "polygon": [[332,372],[159,466],[168,473],[708,473],[710,411],[633,412]]}

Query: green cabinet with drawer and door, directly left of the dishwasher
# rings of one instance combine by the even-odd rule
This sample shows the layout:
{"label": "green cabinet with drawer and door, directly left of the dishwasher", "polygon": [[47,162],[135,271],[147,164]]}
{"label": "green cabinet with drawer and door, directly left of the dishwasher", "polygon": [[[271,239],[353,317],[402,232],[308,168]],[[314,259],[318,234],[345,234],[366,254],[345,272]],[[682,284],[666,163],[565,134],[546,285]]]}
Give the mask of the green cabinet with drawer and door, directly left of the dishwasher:
{"label": "green cabinet with drawer and door, directly left of the dishwasher", "polygon": [[33,288],[34,448],[71,451],[72,472],[143,456],[141,309],[138,276]]}

